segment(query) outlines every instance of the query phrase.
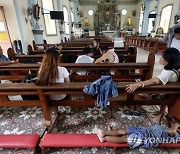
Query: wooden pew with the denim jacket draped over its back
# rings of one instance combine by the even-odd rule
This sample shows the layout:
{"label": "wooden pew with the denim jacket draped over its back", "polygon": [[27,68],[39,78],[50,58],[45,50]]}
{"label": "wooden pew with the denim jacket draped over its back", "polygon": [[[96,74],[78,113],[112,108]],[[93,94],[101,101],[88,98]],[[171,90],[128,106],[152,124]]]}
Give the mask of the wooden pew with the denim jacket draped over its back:
{"label": "wooden pew with the denim jacket draped over its back", "polygon": [[[1,83],[0,84],[0,106],[41,106],[46,120],[51,121],[50,108],[58,105],[70,106],[94,106],[94,101],[89,95],[83,93],[87,82],[59,83],[52,86],[36,86],[33,83]],[[180,82],[168,83],[166,85],[154,85],[138,88],[133,94],[126,93],[126,85],[129,82],[116,82],[119,97],[110,99],[111,105],[168,105],[172,106],[180,94]],[[166,100],[144,100],[136,94],[139,93],[163,93],[169,94]],[[50,94],[84,95],[84,100],[61,101],[49,100]],[[38,95],[39,100],[9,100],[9,95]]]}

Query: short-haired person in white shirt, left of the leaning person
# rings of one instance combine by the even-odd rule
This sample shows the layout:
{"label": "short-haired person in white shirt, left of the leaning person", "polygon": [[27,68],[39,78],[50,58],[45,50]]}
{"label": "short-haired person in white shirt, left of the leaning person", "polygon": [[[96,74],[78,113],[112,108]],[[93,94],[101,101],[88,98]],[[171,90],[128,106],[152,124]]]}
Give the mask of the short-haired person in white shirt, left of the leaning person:
{"label": "short-haired person in white shirt, left of the leaning person", "polygon": [[[92,49],[85,47],[83,49],[83,55],[78,56],[75,63],[94,63],[94,58],[91,58],[93,55]],[[86,75],[87,71],[76,71],[78,75]]]}

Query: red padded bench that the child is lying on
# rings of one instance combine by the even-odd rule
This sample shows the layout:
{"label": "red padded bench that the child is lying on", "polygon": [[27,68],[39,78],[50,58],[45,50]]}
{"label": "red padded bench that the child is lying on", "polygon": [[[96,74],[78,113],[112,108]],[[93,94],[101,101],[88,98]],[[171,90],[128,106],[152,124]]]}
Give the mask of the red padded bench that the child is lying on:
{"label": "red padded bench that the child is lying on", "polygon": [[[70,147],[113,147],[127,148],[127,143],[101,143],[96,134],[45,134],[40,141],[41,148],[70,148]],[[180,143],[160,144],[161,148],[178,148]]]}

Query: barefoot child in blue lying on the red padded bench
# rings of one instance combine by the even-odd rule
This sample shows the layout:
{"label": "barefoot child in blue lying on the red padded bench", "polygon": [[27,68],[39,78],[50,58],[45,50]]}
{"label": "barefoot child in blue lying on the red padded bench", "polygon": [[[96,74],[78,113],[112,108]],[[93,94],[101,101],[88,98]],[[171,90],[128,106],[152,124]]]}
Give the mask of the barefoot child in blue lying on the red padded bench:
{"label": "barefoot child in blue lying on the red padded bench", "polygon": [[143,147],[150,148],[156,147],[160,143],[175,143],[180,140],[180,124],[175,123],[170,128],[165,125],[155,124],[150,127],[133,127],[129,126],[126,129],[106,131],[95,127],[100,142],[112,143],[128,143],[131,148]]}

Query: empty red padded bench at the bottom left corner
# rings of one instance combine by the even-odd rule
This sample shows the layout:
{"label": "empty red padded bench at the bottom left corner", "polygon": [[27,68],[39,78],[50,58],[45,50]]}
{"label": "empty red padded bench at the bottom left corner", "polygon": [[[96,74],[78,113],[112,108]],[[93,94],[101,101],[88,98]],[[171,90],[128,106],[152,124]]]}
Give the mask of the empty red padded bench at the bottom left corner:
{"label": "empty red padded bench at the bottom left corner", "polygon": [[0,135],[0,148],[32,148],[39,142],[40,136],[35,134]]}

